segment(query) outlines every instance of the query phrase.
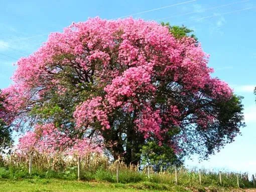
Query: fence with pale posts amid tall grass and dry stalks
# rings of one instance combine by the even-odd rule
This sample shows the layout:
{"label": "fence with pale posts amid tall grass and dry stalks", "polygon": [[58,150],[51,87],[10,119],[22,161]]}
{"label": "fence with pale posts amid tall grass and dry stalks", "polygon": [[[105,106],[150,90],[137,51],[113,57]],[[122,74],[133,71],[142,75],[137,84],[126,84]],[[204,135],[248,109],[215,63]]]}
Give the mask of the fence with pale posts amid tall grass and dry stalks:
{"label": "fence with pale posts amid tall grass and dry stalks", "polygon": [[[65,157],[65,159],[63,156],[49,158],[47,155],[37,153],[30,153],[27,156],[14,155],[6,159],[5,166],[7,169],[8,167],[9,169],[15,167],[16,170],[23,168],[29,176],[44,175],[49,178],[57,175],[57,177],[65,179],[67,178],[65,175],[73,175],[72,179],[117,183],[147,180],[170,185],[218,185],[241,188],[255,187],[256,183],[255,174],[249,178],[247,173],[187,169],[183,166],[168,166],[164,170],[156,171],[151,165],[126,165],[120,159],[110,162],[108,158],[98,154],[90,154],[86,157]],[[52,175],[49,176],[50,173]]]}

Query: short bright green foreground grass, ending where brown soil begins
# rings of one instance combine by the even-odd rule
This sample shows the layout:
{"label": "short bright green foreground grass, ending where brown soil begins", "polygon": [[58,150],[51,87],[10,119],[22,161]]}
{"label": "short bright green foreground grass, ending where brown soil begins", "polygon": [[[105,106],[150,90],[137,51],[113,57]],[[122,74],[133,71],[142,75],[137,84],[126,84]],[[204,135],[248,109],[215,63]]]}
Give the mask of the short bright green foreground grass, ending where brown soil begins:
{"label": "short bright green foreground grass, ending where brown soil begins", "polygon": [[[154,185],[152,183],[109,183],[109,182],[86,182],[86,181],[70,181],[61,179],[22,179],[22,180],[0,180],[0,191],[5,192],[57,192],[57,191],[160,191],[156,188],[163,186]],[[179,190],[175,187],[175,191]],[[170,189],[166,188],[166,189]],[[178,189],[178,190],[176,190]],[[167,190],[161,190],[167,191]],[[170,190],[168,190],[170,191]]]}

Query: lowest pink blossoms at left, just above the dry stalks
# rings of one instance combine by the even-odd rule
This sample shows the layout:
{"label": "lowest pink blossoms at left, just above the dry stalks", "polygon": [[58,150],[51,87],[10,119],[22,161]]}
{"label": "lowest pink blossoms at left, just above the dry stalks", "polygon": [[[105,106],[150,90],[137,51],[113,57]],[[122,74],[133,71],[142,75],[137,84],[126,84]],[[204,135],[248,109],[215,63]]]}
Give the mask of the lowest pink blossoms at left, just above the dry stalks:
{"label": "lowest pink blossoms at left, just above the dry stalks", "polygon": [[52,123],[36,125],[34,131],[28,131],[19,139],[21,151],[63,153],[83,156],[89,152],[102,152],[102,147],[88,138],[70,138],[68,131],[59,131]]}

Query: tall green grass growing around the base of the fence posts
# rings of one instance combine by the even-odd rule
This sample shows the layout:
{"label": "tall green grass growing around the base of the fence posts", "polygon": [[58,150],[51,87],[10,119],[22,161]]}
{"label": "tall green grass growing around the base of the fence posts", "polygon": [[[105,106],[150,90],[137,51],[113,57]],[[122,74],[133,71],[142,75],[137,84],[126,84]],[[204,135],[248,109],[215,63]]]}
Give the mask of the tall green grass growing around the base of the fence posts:
{"label": "tall green grass growing around the base of the fence posts", "polygon": [[[180,169],[178,171],[178,185],[182,187],[237,187],[236,174],[232,172],[222,173],[222,184],[219,183],[218,173],[202,170],[202,184],[199,184],[199,174],[196,171],[188,171]],[[32,175],[29,175],[27,168],[24,167],[0,167],[0,179],[6,180],[21,180],[21,179],[62,179],[67,181],[75,181],[77,179],[77,169],[74,167],[67,168],[65,170],[40,170],[34,167]],[[102,167],[97,169],[83,169],[81,172],[81,180],[83,181],[96,181],[96,182],[109,182],[116,183],[116,172]],[[135,171],[130,169],[120,169],[119,183],[121,184],[137,184],[150,183],[151,185],[159,187],[159,189],[166,189],[165,186],[175,186],[175,173],[163,172],[154,173],[151,172],[151,177],[148,178],[147,174],[143,171]],[[252,187],[252,181],[244,180],[242,176],[239,176],[239,183],[241,188]]]}

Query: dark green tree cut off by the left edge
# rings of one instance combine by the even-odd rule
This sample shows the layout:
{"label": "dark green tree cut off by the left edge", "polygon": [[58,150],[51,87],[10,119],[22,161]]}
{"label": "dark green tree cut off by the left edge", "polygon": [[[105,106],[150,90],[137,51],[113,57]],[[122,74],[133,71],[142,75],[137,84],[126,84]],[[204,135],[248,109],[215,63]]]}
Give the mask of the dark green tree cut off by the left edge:
{"label": "dark green tree cut off by the left edge", "polygon": [[[0,94],[1,94],[1,90],[0,90]],[[3,106],[4,100],[5,99],[3,97],[0,97],[0,114],[3,114],[5,111]],[[0,118],[0,153],[8,152],[8,149],[10,149],[10,146],[12,144],[13,144],[12,130],[10,127],[6,125],[4,120]]]}

